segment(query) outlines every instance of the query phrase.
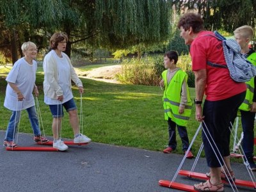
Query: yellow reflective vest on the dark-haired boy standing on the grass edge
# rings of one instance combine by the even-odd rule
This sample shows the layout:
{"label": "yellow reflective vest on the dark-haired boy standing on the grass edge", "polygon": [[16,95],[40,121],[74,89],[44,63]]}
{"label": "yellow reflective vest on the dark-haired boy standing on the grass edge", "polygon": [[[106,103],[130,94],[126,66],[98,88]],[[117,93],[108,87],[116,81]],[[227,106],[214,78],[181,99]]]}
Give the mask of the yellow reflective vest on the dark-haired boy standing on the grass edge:
{"label": "yellow reflective vest on the dark-haired boy standing on the grass edge", "polygon": [[181,98],[181,88],[182,82],[186,79],[188,80],[188,74],[182,70],[177,70],[177,72],[172,77],[170,83],[167,80],[168,70],[164,70],[162,77],[164,79],[164,95],[163,95],[163,106],[164,106],[164,119],[168,120],[171,118],[173,122],[177,125],[186,127],[188,124],[189,117],[191,115],[192,101],[189,96],[188,84],[187,88],[187,98],[188,103],[185,106],[184,113],[179,114],[180,98]]}

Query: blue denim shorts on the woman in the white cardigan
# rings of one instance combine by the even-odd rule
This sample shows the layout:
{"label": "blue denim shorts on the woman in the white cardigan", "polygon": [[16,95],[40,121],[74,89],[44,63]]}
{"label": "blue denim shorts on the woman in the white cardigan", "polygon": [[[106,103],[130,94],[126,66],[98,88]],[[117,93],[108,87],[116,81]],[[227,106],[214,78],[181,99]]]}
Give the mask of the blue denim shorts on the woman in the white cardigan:
{"label": "blue denim shorts on the woman in the white cardigan", "polygon": [[64,108],[66,109],[67,112],[77,109],[76,108],[76,102],[74,101],[73,98],[68,100],[67,102],[65,102],[63,104],[49,105],[49,107],[51,109],[52,117],[58,118],[58,117],[64,116],[63,106],[64,106]]}

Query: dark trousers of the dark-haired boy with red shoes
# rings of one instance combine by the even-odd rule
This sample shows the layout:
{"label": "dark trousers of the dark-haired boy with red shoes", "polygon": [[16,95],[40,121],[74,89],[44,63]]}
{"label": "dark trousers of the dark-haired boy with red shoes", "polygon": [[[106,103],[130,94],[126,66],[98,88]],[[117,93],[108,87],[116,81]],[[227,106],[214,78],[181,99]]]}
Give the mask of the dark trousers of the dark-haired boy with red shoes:
{"label": "dark trousers of the dark-haired boy with red shoes", "polygon": [[182,150],[188,150],[189,140],[188,140],[188,132],[186,127],[175,124],[171,118],[168,118],[168,131],[169,131],[169,143],[168,146],[172,147],[173,150],[177,147],[176,140],[176,126],[182,141]]}

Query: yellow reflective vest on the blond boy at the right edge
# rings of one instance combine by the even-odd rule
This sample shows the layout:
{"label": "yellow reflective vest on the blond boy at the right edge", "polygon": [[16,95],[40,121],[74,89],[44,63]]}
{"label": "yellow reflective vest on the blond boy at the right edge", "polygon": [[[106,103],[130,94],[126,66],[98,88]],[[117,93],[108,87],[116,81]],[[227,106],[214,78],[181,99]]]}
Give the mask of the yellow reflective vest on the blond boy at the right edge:
{"label": "yellow reflective vest on the blond boy at the right edge", "polygon": [[[246,59],[256,66],[256,52],[253,52],[252,54],[250,54]],[[253,94],[254,94],[254,88],[255,88],[254,77],[250,81],[246,82],[245,84],[247,87],[246,95],[239,109],[243,111],[250,111],[252,108]]]}

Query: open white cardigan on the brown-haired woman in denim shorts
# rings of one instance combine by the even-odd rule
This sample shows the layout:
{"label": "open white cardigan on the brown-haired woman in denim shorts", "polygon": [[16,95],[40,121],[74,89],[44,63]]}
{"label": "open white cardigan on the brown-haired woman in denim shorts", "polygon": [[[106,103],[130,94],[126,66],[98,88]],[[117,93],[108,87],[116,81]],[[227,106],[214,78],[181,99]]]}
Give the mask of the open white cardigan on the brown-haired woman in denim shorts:
{"label": "open white cardigan on the brown-haired woman in denim shorts", "polygon": [[[54,50],[50,51],[44,58],[44,95],[51,99],[57,99],[57,97],[63,95],[63,91],[61,87],[58,85],[58,69],[57,62],[54,56]],[[76,86],[83,87],[83,83],[78,78],[74,67],[71,64],[70,58],[68,58],[67,54],[61,52],[61,54],[66,58],[70,65],[70,76],[69,76],[69,88],[71,90],[71,80],[76,83]]]}

